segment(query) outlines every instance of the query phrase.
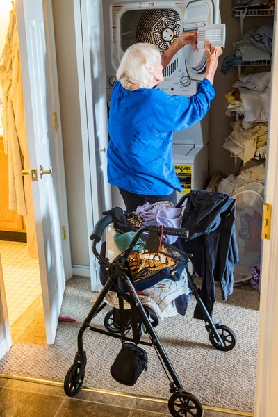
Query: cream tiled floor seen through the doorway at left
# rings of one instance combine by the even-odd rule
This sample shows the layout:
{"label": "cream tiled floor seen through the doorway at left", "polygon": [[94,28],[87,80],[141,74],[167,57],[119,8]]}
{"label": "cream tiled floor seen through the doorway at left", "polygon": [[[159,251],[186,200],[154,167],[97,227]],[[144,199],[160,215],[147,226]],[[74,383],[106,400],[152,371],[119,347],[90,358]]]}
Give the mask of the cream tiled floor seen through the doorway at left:
{"label": "cream tiled floor seen through the doorway at left", "polygon": [[27,244],[0,240],[0,254],[10,325],[41,293],[38,259],[31,259]]}

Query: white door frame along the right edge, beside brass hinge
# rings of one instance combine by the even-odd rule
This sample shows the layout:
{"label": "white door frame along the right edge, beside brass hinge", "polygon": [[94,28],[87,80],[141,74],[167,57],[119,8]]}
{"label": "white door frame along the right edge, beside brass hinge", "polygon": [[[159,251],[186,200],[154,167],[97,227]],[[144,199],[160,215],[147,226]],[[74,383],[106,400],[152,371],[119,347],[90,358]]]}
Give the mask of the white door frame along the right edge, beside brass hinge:
{"label": "white door frame along the right edge, beside brass hinge", "polygon": [[272,50],[268,155],[266,158],[265,202],[272,206],[270,240],[263,240],[261,261],[261,305],[256,369],[254,417],[277,415],[278,374],[278,7],[275,8]]}

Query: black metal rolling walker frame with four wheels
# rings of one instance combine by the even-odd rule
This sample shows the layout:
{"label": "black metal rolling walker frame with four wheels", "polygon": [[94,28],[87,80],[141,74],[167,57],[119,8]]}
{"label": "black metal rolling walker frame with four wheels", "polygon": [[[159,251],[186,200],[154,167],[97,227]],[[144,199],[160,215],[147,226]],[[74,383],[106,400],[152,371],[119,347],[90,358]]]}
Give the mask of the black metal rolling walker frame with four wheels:
{"label": "black metal rolling walker frame with four wheels", "polygon": [[[135,342],[141,345],[153,346],[158,354],[158,358],[165,370],[165,373],[170,380],[170,393],[172,394],[168,402],[169,411],[172,416],[184,417],[195,416],[202,417],[202,404],[193,396],[188,393],[181,384],[177,373],[175,372],[172,363],[167,357],[167,354],[161,345],[161,342],[154,330],[154,327],[158,325],[158,320],[152,316],[152,314],[142,306],[136,288],[134,285],[133,277],[130,269],[127,266],[127,256],[129,256],[131,250],[136,245],[138,239],[142,233],[149,232],[149,236],[146,242],[146,248],[149,252],[156,253],[160,250],[159,242],[161,241],[161,234],[179,236],[179,238],[185,238],[188,236],[187,229],[172,229],[166,227],[143,227],[138,230],[136,236],[134,236],[131,245],[122,254],[117,256],[113,262],[110,262],[107,258],[101,256],[97,250],[97,243],[101,241],[101,237],[104,234],[106,227],[113,223],[111,215],[105,215],[99,222],[97,222],[95,229],[92,233],[92,252],[102,267],[105,268],[108,274],[108,280],[101,289],[99,297],[93,304],[92,309],[85,318],[77,338],[78,350],[76,352],[74,363],[67,371],[64,382],[64,390],[66,395],[72,397],[78,393],[83,385],[85,377],[86,366],[86,354],[83,350],[83,333],[86,329],[92,330],[106,336],[111,336],[120,339],[122,342]],[[165,247],[171,247],[171,245],[163,241]],[[174,248],[177,250],[177,248]],[[187,263],[191,255],[177,250],[183,255],[184,262]],[[213,323],[211,316],[209,315],[204,303],[199,297],[197,286],[195,285],[190,273],[188,274],[188,286],[191,289],[191,293],[195,296],[199,308],[202,310],[204,316],[204,322],[206,331],[208,332],[208,338],[211,344],[218,350],[229,351],[236,345],[236,335],[229,329],[229,327],[222,325],[220,322]],[[104,319],[104,325],[106,330],[98,329],[91,326],[92,319],[104,309],[107,305],[104,302],[104,297],[111,289],[112,286],[117,287],[117,295],[119,297],[119,309],[113,309],[106,314]],[[131,306],[131,313],[126,316],[126,310],[124,310],[124,300]],[[117,311],[119,310],[119,311]],[[129,310],[128,310],[129,311]],[[136,312],[136,316],[134,316]],[[134,319],[135,318],[135,319]],[[132,338],[129,338],[127,334],[132,329]],[[141,341],[142,332],[149,335],[150,342]]]}

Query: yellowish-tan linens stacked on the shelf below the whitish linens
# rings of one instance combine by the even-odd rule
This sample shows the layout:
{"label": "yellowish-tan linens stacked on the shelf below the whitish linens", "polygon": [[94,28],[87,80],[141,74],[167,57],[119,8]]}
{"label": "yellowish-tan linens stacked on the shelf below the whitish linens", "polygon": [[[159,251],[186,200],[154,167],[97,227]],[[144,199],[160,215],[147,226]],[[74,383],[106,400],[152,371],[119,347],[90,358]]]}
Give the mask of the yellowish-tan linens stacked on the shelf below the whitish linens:
{"label": "yellowish-tan linens stacked on the shelf below the whitish linens", "polygon": [[261,160],[265,158],[268,140],[268,123],[258,123],[245,129],[242,120],[232,122],[233,131],[224,142],[224,149],[233,152],[236,156],[247,163],[252,158]]}

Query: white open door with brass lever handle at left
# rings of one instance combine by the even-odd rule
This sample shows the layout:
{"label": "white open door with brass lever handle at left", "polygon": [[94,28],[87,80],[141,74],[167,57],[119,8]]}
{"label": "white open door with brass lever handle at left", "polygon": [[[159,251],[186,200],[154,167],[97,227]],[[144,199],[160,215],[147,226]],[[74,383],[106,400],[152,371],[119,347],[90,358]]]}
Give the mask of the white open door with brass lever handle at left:
{"label": "white open door with brass lever handle at left", "polygon": [[[35,228],[47,343],[54,343],[67,273],[63,254],[60,196],[65,196],[63,148],[57,140],[54,114],[56,72],[51,62],[47,0],[17,0]],[[47,28],[47,30],[46,30]],[[49,46],[50,45],[50,46]],[[56,113],[54,113],[56,112]],[[67,206],[65,198],[62,202]],[[65,218],[63,219],[65,220]]]}

